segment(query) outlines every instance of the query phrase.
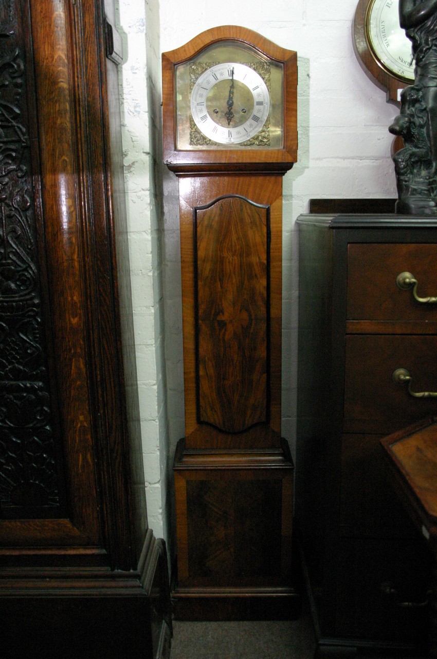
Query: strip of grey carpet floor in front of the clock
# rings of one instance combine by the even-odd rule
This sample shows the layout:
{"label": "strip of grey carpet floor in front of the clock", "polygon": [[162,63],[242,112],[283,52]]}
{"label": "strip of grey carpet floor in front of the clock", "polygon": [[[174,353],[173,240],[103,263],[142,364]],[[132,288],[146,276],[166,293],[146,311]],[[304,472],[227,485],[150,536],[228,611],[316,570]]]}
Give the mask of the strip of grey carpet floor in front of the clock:
{"label": "strip of grey carpet floor in front of the clock", "polygon": [[311,659],[308,614],[292,621],[173,622],[170,659]]}

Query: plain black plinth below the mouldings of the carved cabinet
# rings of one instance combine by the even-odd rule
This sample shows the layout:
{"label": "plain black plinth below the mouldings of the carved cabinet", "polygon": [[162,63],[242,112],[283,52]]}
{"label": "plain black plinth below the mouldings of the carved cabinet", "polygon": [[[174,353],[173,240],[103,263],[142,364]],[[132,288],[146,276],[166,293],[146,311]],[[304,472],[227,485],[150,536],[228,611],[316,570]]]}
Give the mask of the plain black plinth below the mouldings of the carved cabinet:
{"label": "plain black plinth below the mouldings of the carved cabinet", "polygon": [[130,659],[140,652],[148,659],[167,659],[170,628],[162,622],[152,633],[152,615],[148,598],[138,596],[2,600],[2,656],[4,659]]}

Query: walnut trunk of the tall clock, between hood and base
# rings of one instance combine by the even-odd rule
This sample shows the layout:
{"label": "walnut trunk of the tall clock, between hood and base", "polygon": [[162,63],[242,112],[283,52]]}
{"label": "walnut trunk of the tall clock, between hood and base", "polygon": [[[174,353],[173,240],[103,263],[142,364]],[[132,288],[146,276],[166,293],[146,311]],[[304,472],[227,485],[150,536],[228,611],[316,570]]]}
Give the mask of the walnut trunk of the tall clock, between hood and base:
{"label": "walnut trunk of the tall clock, between hood and base", "polygon": [[179,185],[187,447],[279,446],[282,178]]}

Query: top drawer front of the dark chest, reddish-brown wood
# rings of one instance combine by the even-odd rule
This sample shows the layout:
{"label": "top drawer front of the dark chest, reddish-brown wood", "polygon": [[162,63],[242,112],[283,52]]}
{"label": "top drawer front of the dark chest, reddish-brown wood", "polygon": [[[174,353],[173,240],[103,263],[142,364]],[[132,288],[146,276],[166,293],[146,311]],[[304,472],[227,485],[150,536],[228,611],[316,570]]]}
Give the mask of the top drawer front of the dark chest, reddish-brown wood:
{"label": "top drawer front of the dark chest, reddish-brown wood", "polygon": [[351,243],[347,248],[347,319],[437,321],[437,304],[417,302],[398,275],[418,281],[417,296],[437,297],[437,244]]}

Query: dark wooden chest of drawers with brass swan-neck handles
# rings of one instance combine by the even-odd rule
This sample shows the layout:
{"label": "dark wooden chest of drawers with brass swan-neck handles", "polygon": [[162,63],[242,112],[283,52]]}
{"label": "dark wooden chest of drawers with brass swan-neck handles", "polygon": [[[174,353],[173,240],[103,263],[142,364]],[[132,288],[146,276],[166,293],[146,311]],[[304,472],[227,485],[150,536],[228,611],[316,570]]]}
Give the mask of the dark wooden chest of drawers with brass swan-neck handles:
{"label": "dark wooden chest of drawers with brass swan-neck handles", "polygon": [[380,438],[437,415],[437,223],[309,214],[297,224],[296,521],[318,652],[420,654],[428,556]]}

